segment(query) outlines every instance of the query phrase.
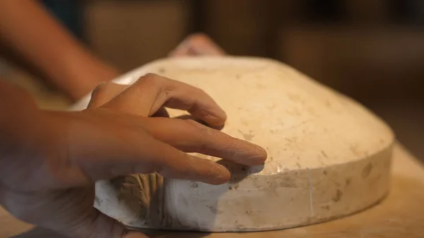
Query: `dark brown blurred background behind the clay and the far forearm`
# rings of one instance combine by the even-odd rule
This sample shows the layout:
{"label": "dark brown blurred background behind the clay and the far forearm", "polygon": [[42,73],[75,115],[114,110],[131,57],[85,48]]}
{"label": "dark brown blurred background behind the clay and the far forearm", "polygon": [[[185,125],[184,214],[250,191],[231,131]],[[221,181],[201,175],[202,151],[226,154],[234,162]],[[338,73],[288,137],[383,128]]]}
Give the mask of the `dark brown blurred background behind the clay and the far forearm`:
{"label": "dark brown blurred background behind the clay and the far forearm", "polygon": [[[192,32],[229,54],[283,61],[370,107],[424,161],[422,0],[45,0],[61,23],[122,71],[167,55]],[[2,59],[41,107],[69,101]]]}

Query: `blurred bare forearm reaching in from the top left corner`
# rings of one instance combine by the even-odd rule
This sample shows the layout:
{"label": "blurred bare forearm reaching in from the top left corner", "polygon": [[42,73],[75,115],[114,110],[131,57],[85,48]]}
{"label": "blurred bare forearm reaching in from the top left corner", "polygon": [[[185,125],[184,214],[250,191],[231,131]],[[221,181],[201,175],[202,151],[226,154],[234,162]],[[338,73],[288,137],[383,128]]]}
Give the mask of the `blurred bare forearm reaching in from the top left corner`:
{"label": "blurred bare forearm reaching in from the top left corner", "polygon": [[0,0],[0,40],[73,100],[118,75],[35,0]]}

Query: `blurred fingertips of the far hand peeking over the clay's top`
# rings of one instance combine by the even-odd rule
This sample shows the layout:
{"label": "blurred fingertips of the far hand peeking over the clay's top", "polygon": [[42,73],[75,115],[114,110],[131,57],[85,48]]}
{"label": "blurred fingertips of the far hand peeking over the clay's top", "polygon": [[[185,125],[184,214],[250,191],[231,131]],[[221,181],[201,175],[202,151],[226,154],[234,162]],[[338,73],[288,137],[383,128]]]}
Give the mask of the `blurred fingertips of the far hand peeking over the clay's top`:
{"label": "blurred fingertips of the far hand peeking over the clay's top", "polygon": [[183,40],[177,48],[170,52],[169,56],[222,56],[224,54],[224,50],[218,47],[211,38],[205,34],[197,33]]}

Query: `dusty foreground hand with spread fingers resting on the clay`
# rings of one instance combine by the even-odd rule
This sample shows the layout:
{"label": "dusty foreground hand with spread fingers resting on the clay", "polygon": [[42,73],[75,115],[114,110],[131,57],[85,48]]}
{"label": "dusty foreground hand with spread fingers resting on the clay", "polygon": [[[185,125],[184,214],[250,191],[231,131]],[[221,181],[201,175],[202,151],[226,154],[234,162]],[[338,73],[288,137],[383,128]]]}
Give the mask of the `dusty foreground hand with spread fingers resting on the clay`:
{"label": "dusty foreground hand with spread fingers resting on the clay", "polygon": [[[206,124],[222,126],[223,112],[198,88],[148,74],[129,87],[106,83],[83,112],[34,114],[28,133],[11,136],[0,160],[0,202],[26,222],[69,237],[145,237],[93,208],[94,183],[125,174],[223,184],[230,172],[202,153],[245,165],[261,165],[266,152],[192,120],[150,117],[172,107]],[[39,119],[40,118],[40,119]]]}

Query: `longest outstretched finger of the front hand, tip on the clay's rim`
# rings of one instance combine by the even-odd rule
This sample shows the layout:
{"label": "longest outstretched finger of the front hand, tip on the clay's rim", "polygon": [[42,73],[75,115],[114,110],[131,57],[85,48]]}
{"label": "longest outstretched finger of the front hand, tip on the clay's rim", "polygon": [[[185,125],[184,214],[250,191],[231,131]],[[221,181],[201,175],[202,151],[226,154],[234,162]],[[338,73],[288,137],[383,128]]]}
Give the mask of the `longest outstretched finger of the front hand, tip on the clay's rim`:
{"label": "longest outstretched finger of the front hand, tip on the clay's rim", "polygon": [[143,124],[151,136],[187,153],[211,155],[250,166],[262,165],[266,160],[263,148],[193,120],[145,119]]}

